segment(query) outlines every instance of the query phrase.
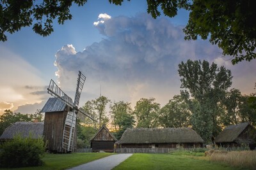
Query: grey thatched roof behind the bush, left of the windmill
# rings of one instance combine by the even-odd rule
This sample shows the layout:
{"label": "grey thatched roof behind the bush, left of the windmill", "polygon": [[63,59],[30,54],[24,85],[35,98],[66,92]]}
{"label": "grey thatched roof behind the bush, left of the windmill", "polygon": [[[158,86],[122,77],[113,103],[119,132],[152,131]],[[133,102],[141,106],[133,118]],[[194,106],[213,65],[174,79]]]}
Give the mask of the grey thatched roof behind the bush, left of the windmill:
{"label": "grey thatched roof behind the bush, left of the windmill", "polygon": [[43,136],[44,122],[15,122],[15,124],[7,127],[1,135],[1,140],[13,139],[13,136],[20,134],[23,138],[29,136],[31,133],[33,138]]}

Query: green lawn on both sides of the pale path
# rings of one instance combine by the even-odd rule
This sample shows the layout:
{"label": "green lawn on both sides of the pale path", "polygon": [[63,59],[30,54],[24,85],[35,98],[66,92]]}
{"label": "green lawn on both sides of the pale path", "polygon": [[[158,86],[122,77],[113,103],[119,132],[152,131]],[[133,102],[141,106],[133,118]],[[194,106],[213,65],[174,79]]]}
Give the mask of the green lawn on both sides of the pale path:
{"label": "green lawn on both sides of the pale path", "polygon": [[[45,164],[40,167],[24,167],[14,169],[67,169],[86,162],[91,162],[114,153],[72,153],[72,154],[46,154],[43,158]],[[239,153],[236,153],[236,155]],[[250,155],[255,156],[255,155]],[[254,168],[254,167],[253,167]],[[244,170],[228,166],[220,160],[204,157],[204,152],[173,152],[173,153],[134,153],[127,160],[114,168],[118,169],[206,169],[206,170]]]}

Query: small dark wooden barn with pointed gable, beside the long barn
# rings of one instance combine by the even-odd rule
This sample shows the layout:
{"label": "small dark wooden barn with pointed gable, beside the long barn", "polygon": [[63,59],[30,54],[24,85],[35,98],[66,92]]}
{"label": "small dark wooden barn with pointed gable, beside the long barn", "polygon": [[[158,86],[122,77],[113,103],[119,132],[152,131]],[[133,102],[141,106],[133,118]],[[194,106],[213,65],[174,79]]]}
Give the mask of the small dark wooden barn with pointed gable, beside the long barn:
{"label": "small dark wooden barn with pointed gable, beside the long barn", "polygon": [[92,152],[113,152],[116,141],[115,136],[109,132],[106,125],[103,125],[91,139]]}

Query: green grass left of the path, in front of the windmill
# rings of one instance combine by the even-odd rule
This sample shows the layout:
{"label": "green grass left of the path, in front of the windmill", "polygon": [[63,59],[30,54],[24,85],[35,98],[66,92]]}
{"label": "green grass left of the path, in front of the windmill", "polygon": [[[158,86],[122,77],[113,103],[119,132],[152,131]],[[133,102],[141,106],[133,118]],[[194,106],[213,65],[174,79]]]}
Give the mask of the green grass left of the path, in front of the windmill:
{"label": "green grass left of the path, in front of the windmill", "polygon": [[[91,162],[103,157],[113,155],[113,153],[72,153],[72,154],[49,154],[47,153],[42,159],[45,164],[40,167],[23,167],[13,169],[67,169],[70,167],[78,166],[86,162]],[[2,169],[2,168],[1,168]]]}

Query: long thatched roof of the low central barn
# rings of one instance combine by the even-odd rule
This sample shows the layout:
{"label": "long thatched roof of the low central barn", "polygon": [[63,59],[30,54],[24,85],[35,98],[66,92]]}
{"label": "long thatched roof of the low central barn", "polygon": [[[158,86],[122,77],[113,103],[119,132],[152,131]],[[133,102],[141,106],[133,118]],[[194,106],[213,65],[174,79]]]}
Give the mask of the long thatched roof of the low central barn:
{"label": "long thatched roof of the low central barn", "polygon": [[191,128],[127,129],[118,143],[203,143]]}

